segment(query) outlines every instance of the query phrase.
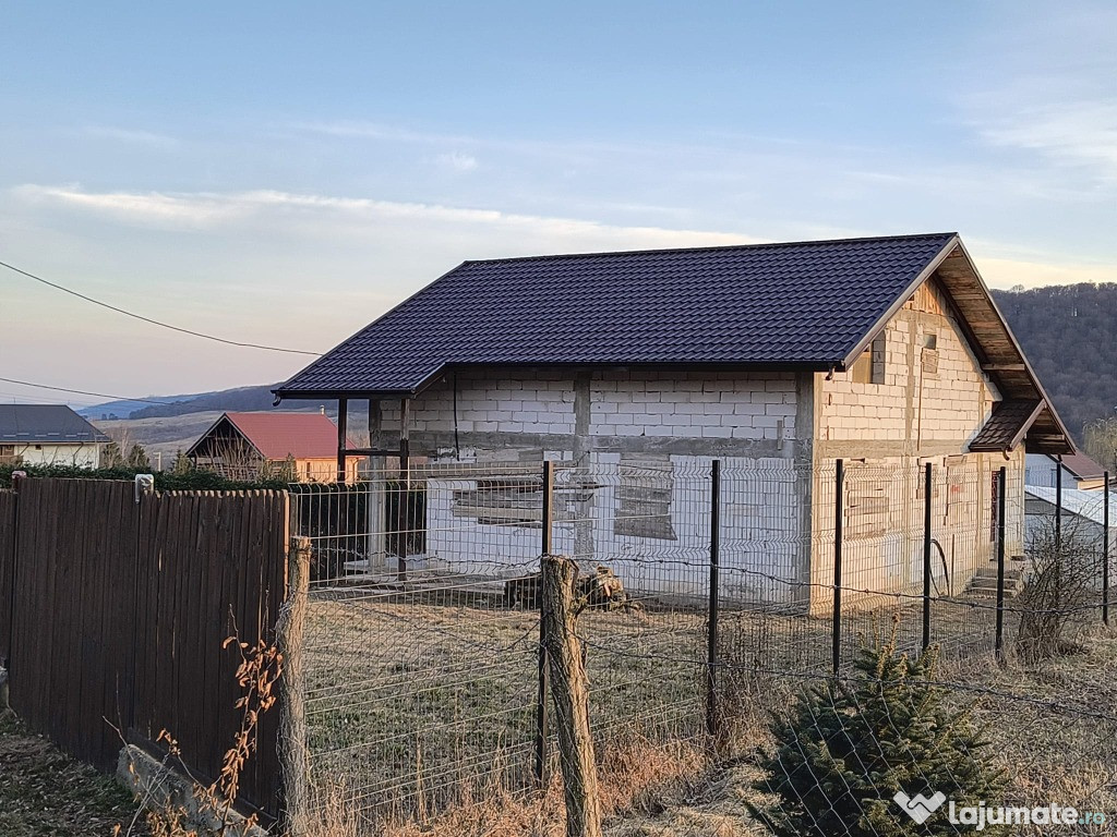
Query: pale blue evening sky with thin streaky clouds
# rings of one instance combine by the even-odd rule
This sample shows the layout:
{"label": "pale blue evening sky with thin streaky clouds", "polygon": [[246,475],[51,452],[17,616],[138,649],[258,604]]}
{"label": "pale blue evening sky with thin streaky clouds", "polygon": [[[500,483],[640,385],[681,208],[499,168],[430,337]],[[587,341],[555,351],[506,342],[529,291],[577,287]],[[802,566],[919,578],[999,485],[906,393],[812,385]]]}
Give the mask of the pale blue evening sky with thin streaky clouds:
{"label": "pale blue evening sky with thin streaky clouds", "polygon": [[[0,261],[321,353],[467,259],[958,231],[1117,281],[1117,4],[9,3]],[[111,395],[307,355],[0,268],[0,377]],[[69,401],[0,382],[0,400]]]}

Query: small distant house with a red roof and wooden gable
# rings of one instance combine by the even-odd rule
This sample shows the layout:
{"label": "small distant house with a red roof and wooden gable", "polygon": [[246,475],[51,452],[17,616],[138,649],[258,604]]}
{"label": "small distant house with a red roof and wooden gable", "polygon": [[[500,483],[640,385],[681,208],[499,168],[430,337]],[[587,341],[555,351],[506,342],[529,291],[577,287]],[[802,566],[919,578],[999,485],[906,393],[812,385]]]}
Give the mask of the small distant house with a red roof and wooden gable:
{"label": "small distant house with a red roof and wooden gable", "polygon": [[[321,413],[225,413],[185,455],[195,468],[231,480],[332,482],[337,427]],[[356,479],[360,464],[357,459],[346,463],[347,480]]]}

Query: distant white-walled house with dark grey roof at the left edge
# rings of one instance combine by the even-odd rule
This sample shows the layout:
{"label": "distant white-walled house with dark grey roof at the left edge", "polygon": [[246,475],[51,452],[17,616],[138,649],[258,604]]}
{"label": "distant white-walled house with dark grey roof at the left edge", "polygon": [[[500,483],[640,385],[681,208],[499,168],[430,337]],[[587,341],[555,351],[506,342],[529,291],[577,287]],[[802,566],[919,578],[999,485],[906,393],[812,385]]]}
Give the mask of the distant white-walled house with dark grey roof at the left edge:
{"label": "distant white-walled house with dark grey roof at the left edge", "polygon": [[65,404],[0,404],[0,464],[99,468],[112,441]]}

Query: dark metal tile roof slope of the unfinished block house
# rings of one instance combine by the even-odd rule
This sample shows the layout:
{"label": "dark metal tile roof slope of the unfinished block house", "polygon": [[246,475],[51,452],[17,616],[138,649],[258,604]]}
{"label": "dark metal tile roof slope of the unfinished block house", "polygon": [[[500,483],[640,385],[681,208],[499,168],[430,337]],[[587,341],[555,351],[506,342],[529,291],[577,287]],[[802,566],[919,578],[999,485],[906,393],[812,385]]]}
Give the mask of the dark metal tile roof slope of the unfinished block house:
{"label": "dark metal tile roof slope of the unfinished block house", "polygon": [[828,368],[954,238],[467,261],[276,392],[409,392],[456,365]]}

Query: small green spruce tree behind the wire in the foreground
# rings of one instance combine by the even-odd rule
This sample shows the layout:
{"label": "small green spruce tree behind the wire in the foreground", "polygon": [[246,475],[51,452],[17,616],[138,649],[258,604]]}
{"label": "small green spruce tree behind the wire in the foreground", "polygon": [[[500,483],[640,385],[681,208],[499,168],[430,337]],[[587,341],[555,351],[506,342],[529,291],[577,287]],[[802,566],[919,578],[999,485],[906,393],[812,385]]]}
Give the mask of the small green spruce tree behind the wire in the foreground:
{"label": "small green spruce tree behind the wire in the foreground", "polygon": [[776,802],[747,807],[780,837],[955,835],[945,805],[917,825],[892,797],[942,792],[960,807],[1003,798],[971,710],[945,705],[946,690],[930,682],[937,650],[897,654],[897,624],[859,651],[853,677],[809,687],[773,719],[775,750],[761,752],[754,788]]}

